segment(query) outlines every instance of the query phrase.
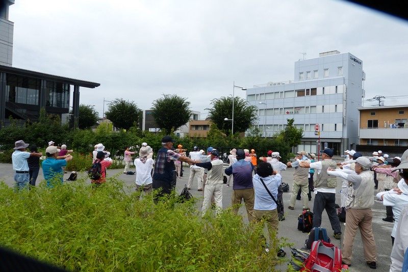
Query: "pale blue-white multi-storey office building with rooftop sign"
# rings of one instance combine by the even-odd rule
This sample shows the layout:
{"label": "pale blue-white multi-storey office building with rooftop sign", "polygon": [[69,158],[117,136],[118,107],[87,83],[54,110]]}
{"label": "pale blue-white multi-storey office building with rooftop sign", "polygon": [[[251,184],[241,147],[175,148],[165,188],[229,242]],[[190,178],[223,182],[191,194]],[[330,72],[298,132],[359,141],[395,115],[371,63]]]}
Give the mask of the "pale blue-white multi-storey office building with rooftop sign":
{"label": "pale blue-white multi-storey office building with rooftop sign", "polygon": [[285,129],[287,119],[303,129],[297,150],[317,152],[333,148],[335,154],[358,144],[359,111],[364,97],[363,62],[350,53],[329,51],[319,58],[295,62],[294,80],[255,85],[246,91],[247,101],[258,107],[258,126],[271,137]]}

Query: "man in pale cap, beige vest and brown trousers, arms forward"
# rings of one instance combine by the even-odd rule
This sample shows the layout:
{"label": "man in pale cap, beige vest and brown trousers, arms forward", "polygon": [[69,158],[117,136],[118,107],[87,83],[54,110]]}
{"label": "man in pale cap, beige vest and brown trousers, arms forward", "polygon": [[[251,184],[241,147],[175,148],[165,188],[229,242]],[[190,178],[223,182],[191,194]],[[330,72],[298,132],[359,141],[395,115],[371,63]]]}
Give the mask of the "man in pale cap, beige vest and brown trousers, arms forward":
{"label": "man in pale cap, beige vest and brown trousers, arms forward", "polygon": [[334,169],[328,169],[327,174],[342,177],[349,181],[345,204],[347,224],[342,247],[343,263],[351,264],[355,233],[360,229],[366,263],[370,268],[375,269],[377,248],[372,229],[373,215],[371,207],[374,205],[374,187],[370,167],[371,162],[368,158],[359,157],[355,160],[355,174],[347,174]]}

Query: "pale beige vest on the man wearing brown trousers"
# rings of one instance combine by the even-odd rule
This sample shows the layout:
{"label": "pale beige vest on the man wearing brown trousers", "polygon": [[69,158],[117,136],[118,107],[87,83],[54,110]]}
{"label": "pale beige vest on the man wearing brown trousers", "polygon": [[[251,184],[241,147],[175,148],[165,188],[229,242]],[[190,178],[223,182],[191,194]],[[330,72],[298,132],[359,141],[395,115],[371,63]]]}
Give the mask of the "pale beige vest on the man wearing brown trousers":
{"label": "pale beige vest on the man wearing brown trousers", "polygon": [[367,209],[374,205],[374,178],[370,171],[360,173],[362,178],[358,189],[354,189],[353,183],[349,182],[346,208]]}

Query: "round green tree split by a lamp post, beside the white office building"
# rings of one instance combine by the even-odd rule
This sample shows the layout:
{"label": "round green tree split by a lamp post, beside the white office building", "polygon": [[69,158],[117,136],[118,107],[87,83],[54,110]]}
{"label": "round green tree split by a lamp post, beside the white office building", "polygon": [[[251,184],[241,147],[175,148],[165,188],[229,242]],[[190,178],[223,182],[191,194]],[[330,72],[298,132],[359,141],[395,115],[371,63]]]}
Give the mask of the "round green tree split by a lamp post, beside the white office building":
{"label": "round green tree split by a lamp post, beside the white office building", "polygon": [[[213,99],[211,104],[212,107],[207,110],[209,110],[209,117],[212,122],[226,135],[230,135],[231,121],[224,121],[224,119],[232,119],[233,98],[223,96],[219,99]],[[249,105],[245,99],[238,96],[234,98],[234,132],[246,131],[257,120],[256,109],[256,106]]]}

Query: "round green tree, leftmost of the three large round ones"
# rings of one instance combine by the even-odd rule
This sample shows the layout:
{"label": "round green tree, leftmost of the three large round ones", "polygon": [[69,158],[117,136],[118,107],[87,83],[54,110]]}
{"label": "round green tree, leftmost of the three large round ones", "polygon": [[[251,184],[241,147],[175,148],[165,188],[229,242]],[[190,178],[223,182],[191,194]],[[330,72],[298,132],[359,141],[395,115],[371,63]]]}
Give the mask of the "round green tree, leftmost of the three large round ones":
{"label": "round green tree, leftmost of the three large round ones", "polygon": [[109,104],[106,118],[118,128],[129,129],[139,120],[140,108],[134,101],[117,98]]}

